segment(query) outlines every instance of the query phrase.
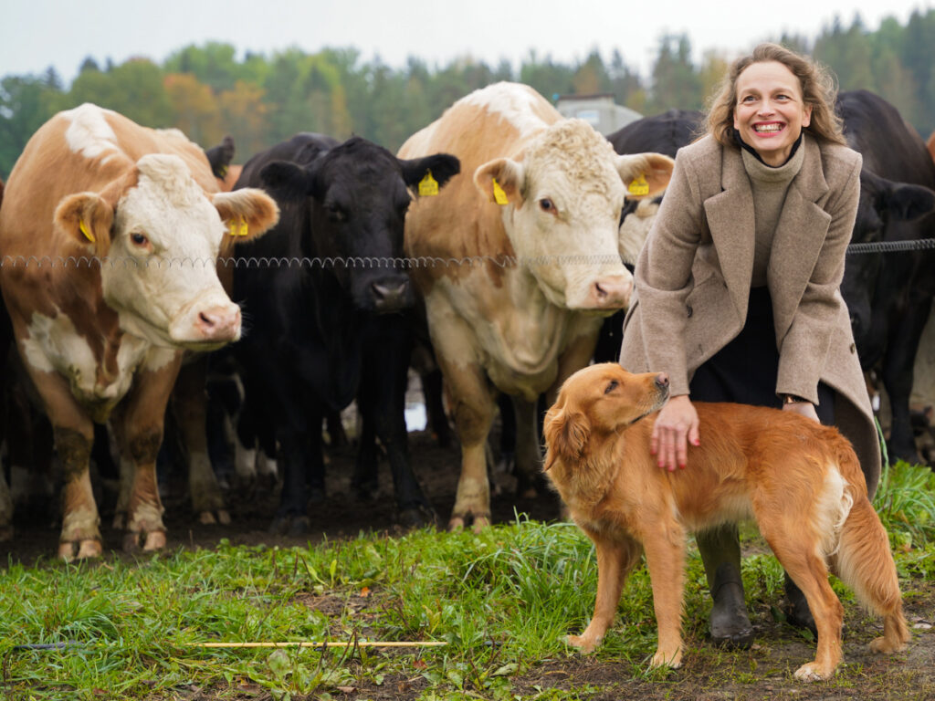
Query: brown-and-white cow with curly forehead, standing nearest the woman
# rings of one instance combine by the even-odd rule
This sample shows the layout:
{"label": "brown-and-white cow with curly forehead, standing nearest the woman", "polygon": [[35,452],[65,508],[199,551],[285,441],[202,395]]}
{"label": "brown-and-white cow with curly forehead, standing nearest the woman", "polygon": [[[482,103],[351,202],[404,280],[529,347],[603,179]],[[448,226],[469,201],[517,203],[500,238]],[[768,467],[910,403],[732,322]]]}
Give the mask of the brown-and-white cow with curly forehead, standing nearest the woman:
{"label": "brown-and-white cow with curly forehead, standing nearest the woman", "polygon": [[618,156],[589,124],[512,83],[462,98],[399,156],[438,151],[460,159],[461,175],[411,205],[406,248],[421,259],[412,278],[461,438],[449,525],[472,518],[477,530],[490,519],[484,446],[497,391],[513,397],[522,490],[538,474],[539,394],[588,364],[601,316],[628,304],[617,242],[624,196],[663,190],[673,162]]}

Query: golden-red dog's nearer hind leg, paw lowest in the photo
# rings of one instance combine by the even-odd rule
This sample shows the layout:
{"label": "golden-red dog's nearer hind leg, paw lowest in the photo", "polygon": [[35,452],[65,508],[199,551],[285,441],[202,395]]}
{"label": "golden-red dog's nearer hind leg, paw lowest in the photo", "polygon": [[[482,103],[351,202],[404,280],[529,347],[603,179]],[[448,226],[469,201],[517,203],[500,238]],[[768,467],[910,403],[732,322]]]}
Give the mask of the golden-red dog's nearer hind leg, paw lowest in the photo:
{"label": "golden-red dog's nearer hind leg, paw lowest in the photo", "polygon": [[[818,649],[814,662],[801,665],[796,679],[803,681],[828,680],[834,676],[841,662],[841,622],[844,608],[827,582],[827,567],[817,552],[818,538],[800,524],[782,527],[775,520],[760,521],[760,532],[783,565],[789,577],[805,594],[818,629]],[[779,527],[777,527],[779,526]]]}

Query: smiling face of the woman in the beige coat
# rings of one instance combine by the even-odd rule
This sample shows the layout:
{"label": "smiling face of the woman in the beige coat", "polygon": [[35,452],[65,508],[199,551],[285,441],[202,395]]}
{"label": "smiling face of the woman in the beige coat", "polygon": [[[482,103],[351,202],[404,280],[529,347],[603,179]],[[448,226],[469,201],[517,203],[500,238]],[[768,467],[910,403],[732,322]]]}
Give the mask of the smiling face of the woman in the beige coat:
{"label": "smiling face of the woman in the beige coat", "polygon": [[812,121],[812,107],[792,71],[778,61],[750,64],[737,77],[734,129],[769,165],[783,165],[802,127]]}

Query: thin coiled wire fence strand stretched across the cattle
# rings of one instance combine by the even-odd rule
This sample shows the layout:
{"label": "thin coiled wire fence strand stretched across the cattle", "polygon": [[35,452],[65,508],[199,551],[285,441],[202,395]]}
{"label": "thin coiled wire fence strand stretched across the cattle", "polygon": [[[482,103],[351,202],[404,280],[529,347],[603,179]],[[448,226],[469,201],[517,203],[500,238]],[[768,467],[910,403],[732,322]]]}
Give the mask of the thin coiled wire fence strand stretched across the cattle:
{"label": "thin coiled wire fence strand stretched across the cattle", "polygon": [[[852,243],[847,247],[848,255],[862,253],[896,253],[913,250],[935,250],[935,238],[915,239],[911,241],[874,241],[869,243]],[[609,265],[620,262],[616,255],[543,255],[543,256],[515,256],[515,255],[474,255],[461,257],[419,256],[419,257],[381,257],[381,256],[353,256],[353,257],[313,257],[300,258],[295,256],[260,256],[240,257],[229,256],[220,258],[174,258],[165,256],[151,256],[148,258],[134,258],[130,256],[111,258],[108,256],[3,256],[0,267],[85,267],[85,268],[116,268],[116,267],[151,267],[159,268],[194,268],[219,267],[225,268],[389,268],[389,269],[418,269],[427,267],[445,267],[468,265],[496,265],[501,268],[508,267],[536,267],[539,265]]]}

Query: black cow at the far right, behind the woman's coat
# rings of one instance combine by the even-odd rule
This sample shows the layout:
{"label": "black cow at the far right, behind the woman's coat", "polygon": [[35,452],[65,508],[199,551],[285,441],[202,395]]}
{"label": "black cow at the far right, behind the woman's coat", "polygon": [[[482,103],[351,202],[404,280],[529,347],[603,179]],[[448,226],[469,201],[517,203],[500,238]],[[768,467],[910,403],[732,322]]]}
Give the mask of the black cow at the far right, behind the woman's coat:
{"label": "black cow at the far right, behind the woman's coat", "polygon": [[[935,237],[935,163],[895,107],[864,90],[841,93],[844,136],[863,155],[852,243]],[[841,293],[860,363],[879,369],[892,409],[889,454],[919,462],[909,414],[913,363],[935,294],[935,251],[847,257]]]}

